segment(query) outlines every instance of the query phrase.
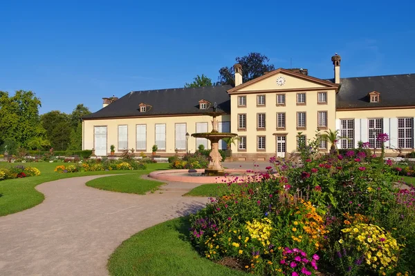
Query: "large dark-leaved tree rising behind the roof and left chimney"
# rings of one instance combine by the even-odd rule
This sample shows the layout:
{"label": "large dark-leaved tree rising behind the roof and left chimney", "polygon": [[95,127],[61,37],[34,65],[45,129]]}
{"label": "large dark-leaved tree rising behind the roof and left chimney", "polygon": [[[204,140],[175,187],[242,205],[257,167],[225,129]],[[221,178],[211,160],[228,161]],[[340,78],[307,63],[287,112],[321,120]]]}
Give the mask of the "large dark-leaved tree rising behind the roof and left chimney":
{"label": "large dark-leaved tree rising behind the roof and left chimney", "polygon": [[[244,57],[237,57],[235,59],[237,63],[242,66],[242,81],[247,82],[251,79],[261,77],[265,72],[275,70],[273,64],[268,64],[268,57],[261,55],[259,52],[250,52]],[[231,67],[222,67],[219,70],[219,77],[217,85],[230,84],[235,86],[234,80],[234,68]]]}

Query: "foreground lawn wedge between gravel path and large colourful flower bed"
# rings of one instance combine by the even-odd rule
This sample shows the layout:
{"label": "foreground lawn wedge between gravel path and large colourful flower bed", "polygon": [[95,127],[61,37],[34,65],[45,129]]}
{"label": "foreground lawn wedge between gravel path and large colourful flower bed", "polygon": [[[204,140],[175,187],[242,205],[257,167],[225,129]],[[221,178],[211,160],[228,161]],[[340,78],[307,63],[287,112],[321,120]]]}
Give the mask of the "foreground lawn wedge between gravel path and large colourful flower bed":
{"label": "foreground lawn wedge between gravel path and large colourful flower bed", "polygon": [[124,241],[109,258],[110,275],[247,275],[201,257],[188,239],[188,219],[166,221]]}

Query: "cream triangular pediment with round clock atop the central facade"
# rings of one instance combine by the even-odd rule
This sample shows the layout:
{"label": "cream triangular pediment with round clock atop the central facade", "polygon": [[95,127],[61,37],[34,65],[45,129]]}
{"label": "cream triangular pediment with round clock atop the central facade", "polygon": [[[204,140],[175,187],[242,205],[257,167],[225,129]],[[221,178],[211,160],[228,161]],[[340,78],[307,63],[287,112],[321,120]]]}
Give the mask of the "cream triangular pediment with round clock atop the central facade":
{"label": "cream triangular pediment with round clock atop the central facade", "polygon": [[259,91],[284,91],[306,89],[337,89],[338,85],[324,79],[306,76],[291,70],[279,68],[272,72],[252,79],[246,83],[234,87],[228,92],[259,92]]}

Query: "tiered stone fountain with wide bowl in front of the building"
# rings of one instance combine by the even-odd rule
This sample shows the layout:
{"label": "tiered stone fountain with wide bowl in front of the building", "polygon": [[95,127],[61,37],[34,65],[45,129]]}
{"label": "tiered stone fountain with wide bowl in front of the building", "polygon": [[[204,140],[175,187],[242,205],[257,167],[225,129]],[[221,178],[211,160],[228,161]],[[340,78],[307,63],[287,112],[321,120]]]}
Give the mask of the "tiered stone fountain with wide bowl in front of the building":
{"label": "tiered stone fountain with wide bowl in front of the building", "polygon": [[223,111],[218,111],[216,103],[214,103],[213,111],[205,112],[204,115],[208,115],[213,118],[212,120],[212,132],[206,133],[193,133],[192,137],[206,138],[210,141],[212,151],[210,152],[210,163],[208,168],[205,169],[205,175],[219,176],[225,174],[225,168],[221,164],[222,156],[219,153],[219,140],[227,137],[236,137],[237,135],[230,132],[219,132],[218,121],[216,117],[225,114]]}

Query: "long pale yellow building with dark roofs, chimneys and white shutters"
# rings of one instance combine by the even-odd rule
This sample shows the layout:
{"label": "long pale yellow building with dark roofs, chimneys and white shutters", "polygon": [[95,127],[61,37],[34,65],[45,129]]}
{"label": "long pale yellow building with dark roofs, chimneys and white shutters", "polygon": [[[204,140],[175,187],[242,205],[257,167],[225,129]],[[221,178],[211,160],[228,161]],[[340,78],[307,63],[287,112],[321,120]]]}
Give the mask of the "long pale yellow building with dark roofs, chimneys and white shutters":
{"label": "long pale yellow building with dark roofs, chimneys and white shutters", "polygon": [[[134,148],[158,155],[194,152],[205,139],[186,140],[186,133],[212,130],[211,118],[203,115],[216,102],[225,115],[219,117],[223,132],[237,133],[233,159],[268,160],[297,150],[300,139],[313,139],[316,131],[339,130],[338,148],[356,148],[369,141],[380,148],[376,137],[387,133],[389,154],[414,148],[415,75],[340,78],[339,55],[331,58],[333,79],[317,79],[306,69],[282,69],[242,83],[242,68],[234,66],[235,87],[178,88],[131,92],[84,117],[83,148],[108,155]],[[322,139],[320,150],[330,144]],[[225,148],[225,144],[221,144]],[[394,150],[392,150],[394,149]]]}

